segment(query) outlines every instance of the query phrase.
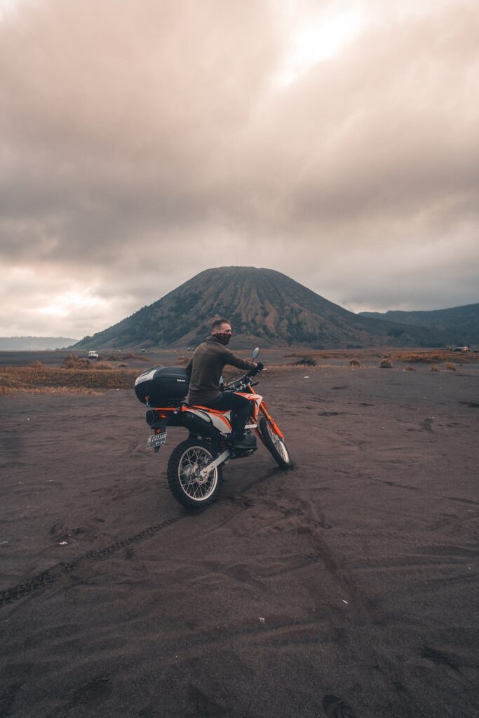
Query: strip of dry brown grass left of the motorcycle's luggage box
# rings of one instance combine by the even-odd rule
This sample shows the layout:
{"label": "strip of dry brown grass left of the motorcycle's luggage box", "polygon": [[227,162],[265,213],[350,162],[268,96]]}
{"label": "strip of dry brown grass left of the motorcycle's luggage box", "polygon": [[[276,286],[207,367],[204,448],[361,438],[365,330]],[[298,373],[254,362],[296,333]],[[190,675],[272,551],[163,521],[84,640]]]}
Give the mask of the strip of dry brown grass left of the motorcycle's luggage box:
{"label": "strip of dry brown grass left of the motorcycle's luggage box", "polygon": [[133,388],[136,371],[101,369],[50,368],[35,362],[34,366],[0,367],[0,394],[17,391],[50,393],[53,391],[79,391],[91,393],[101,389]]}

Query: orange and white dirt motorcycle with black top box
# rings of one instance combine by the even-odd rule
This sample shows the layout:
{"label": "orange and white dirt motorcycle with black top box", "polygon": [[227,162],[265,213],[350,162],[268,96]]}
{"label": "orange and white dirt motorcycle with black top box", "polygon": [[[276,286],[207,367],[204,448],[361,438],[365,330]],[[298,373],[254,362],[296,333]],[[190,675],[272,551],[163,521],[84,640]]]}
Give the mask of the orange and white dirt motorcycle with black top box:
{"label": "orange and white dirt motorcycle with black top box", "polygon": [[[259,348],[251,355],[256,359]],[[279,467],[287,469],[292,466],[292,460],[284,434],[269,414],[263,397],[254,392],[253,387],[258,382],[253,382],[252,378],[256,373],[257,370],[252,370],[239,378],[232,377],[223,385],[223,391],[234,391],[251,401],[246,434],[255,434]],[[186,396],[185,375],[181,369],[153,368],[136,379],[135,391],[140,401],[149,407],[146,419],[154,433],[147,441],[147,449],[159,451],[167,440],[168,426],[182,426],[188,430],[187,439],[178,444],[169,457],[167,479],[169,489],[180,504],[185,508],[200,509],[218,498],[223,482],[223,466],[230,460],[251,456],[257,446],[253,444],[247,449],[235,449],[231,411],[186,404],[182,398],[172,396],[175,393]],[[165,388],[167,382],[173,389]],[[155,406],[159,399],[162,406]]]}

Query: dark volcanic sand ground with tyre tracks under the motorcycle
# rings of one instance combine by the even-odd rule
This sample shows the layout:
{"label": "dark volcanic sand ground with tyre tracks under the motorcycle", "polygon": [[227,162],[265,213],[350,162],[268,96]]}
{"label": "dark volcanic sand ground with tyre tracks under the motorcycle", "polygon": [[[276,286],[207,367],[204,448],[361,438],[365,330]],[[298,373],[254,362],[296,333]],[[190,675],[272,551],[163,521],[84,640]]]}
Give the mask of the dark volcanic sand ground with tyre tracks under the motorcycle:
{"label": "dark volcanic sand ground with tyre tracks under the motorcycle", "polygon": [[131,393],[2,398],[2,718],[478,715],[478,381],[271,373],[196,516]]}

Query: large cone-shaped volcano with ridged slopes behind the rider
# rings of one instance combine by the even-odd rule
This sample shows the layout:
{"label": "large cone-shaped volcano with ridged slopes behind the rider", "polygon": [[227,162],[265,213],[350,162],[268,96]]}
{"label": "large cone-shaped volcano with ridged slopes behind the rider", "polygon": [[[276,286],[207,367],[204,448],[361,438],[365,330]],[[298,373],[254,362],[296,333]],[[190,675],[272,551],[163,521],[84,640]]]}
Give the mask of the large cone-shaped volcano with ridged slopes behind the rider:
{"label": "large cone-shaped volcano with ridged slopes behind the rider", "polygon": [[361,317],[273,269],[207,269],[130,317],[84,337],[75,348],[196,345],[227,317],[235,346],[312,348],[417,345],[427,330]]}

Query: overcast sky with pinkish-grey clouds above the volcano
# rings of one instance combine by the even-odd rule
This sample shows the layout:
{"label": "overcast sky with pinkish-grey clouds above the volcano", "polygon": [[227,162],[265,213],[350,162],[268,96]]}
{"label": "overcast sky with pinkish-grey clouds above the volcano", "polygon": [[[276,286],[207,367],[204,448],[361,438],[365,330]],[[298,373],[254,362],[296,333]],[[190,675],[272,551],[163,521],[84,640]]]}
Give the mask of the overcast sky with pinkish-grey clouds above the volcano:
{"label": "overcast sky with pinkish-grey clouds above the volcano", "polygon": [[478,0],[0,0],[0,335],[199,271],[479,302]]}

